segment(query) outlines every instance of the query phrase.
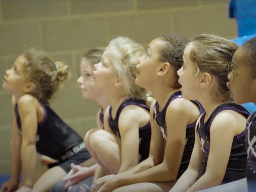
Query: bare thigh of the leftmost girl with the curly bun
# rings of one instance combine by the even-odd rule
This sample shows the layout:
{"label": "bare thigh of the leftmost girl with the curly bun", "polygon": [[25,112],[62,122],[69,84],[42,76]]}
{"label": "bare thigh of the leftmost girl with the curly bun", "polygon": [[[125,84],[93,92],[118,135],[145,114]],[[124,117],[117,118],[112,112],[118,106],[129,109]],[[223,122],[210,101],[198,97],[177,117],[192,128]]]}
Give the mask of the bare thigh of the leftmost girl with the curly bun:
{"label": "bare thigh of the leftmost girl with the curly bun", "polygon": [[32,192],[48,192],[50,188],[56,182],[62,180],[66,174],[67,173],[60,166],[49,169],[35,182]]}

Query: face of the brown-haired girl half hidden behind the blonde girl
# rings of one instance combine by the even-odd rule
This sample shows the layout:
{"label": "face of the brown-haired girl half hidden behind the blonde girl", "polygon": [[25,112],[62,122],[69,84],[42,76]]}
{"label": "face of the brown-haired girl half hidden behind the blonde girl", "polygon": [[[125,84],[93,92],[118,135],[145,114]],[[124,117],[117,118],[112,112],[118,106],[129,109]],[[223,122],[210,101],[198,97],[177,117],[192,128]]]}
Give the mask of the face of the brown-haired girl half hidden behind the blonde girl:
{"label": "face of the brown-haired girl half hidden behind the blonde girl", "polygon": [[82,58],[80,63],[81,76],[78,78],[77,83],[85,99],[95,99],[96,95],[100,92],[98,88],[92,86],[94,78],[94,68],[89,60]]}

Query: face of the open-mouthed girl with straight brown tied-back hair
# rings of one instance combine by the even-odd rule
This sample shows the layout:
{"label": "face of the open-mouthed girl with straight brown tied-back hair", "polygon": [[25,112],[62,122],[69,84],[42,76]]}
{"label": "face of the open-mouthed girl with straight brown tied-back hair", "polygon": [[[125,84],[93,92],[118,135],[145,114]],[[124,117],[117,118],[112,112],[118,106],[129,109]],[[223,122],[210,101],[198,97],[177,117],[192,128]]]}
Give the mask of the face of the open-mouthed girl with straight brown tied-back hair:
{"label": "face of the open-mouthed girl with straight brown tied-back hair", "polygon": [[194,76],[194,64],[190,60],[192,44],[188,44],[183,54],[183,66],[177,71],[180,77],[178,82],[181,84],[182,97],[187,100],[197,100],[199,90],[199,78]]}

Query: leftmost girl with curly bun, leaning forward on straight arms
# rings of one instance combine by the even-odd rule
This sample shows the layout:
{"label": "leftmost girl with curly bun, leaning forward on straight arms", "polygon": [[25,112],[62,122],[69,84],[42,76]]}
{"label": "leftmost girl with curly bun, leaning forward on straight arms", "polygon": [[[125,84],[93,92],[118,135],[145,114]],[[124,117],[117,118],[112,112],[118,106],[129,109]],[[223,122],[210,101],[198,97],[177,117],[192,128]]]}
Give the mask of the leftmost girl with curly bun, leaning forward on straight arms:
{"label": "leftmost girl with curly bun, leaning forward on straight arms", "polygon": [[[2,192],[18,189],[21,171],[19,192],[48,191],[70,171],[70,163],[80,164],[91,157],[82,138],[48,103],[67,76],[68,66],[34,49],[26,50],[6,71],[3,88],[13,94],[12,171]],[[36,171],[36,152],[58,162]]]}

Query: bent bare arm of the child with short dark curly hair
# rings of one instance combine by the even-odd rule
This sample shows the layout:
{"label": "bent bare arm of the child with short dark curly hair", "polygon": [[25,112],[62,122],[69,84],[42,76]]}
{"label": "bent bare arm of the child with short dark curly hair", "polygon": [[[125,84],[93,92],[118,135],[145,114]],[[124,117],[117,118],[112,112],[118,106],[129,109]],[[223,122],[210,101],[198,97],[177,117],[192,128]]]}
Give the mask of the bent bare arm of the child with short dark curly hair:
{"label": "bent bare arm of the child with short dark curly hair", "polygon": [[163,162],[138,174],[124,176],[120,179],[121,186],[138,182],[165,182],[176,178],[184,152],[186,126],[190,120],[190,115],[185,111],[186,105],[183,100],[172,102],[168,106],[166,111],[168,135]]}

